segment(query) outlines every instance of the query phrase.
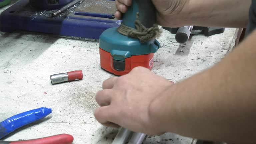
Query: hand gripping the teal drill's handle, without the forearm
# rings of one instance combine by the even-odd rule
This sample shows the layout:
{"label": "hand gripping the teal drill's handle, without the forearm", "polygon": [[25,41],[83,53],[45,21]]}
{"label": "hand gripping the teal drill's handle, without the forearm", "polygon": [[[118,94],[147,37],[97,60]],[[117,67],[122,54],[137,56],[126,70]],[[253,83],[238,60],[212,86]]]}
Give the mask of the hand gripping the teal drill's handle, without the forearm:
{"label": "hand gripping the teal drill's handle, without the forearm", "polygon": [[[164,27],[180,27],[189,20],[190,0],[152,0],[157,9],[157,24]],[[122,18],[128,7],[131,6],[132,0],[116,0],[117,11],[115,17]]]}

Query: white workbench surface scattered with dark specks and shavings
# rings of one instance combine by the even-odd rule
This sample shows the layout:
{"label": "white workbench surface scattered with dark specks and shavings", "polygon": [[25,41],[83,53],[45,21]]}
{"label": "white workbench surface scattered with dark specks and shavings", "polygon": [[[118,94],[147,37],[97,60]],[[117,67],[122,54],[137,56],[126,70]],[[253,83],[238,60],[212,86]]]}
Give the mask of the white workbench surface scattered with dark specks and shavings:
{"label": "white workbench surface scattered with dark specks and shavings", "polygon": [[[186,45],[180,45],[173,34],[164,31],[152,71],[173,81],[187,78],[223,58],[235,44],[236,35],[236,29],[228,28],[211,37],[193,36]],[[83,80],[51,84],[51,74],[73,70],[82,70]],[[74,136],[74,144],[111,144],[118,132],[103,127],[93,116],[98,107],[95,94],[102,82],[113,76],[100,68],[97,40],[0,32],[0,74],[0,121],[31,109],[52,108],[52,114],[11,133],[5,140],[67,133]],[[167,133],[147,137],[144,144],[192,142],[192,138]]]}

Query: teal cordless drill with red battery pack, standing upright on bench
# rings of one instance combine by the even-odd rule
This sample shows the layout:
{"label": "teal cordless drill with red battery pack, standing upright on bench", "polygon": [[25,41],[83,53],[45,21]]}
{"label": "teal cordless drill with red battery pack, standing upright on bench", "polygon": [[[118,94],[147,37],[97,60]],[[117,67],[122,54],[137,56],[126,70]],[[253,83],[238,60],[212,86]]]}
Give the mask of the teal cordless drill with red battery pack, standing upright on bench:
{"label": "teal cordless drill with red battery pack, standing upright on bench", "polygon": [[[136,0],[133,0],[132,5],[123,15],[122,24],[135,29],[137,13],[139,8]],[[156,39],[141,43],[137,38],[120,34],[117,29],[117,27],[107,29],[100,35],[101,67],[115,75],[127,74],[136,66],[151,69],[154,53],[159,49],[160,43]]]}

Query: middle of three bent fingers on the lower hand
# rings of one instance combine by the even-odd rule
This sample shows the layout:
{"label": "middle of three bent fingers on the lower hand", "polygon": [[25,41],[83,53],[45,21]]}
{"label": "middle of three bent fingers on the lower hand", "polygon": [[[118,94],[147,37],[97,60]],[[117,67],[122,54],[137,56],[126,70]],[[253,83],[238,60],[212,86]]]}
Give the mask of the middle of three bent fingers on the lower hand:
{"label": "middle of three bent fingers on the lower hand", "polygon": [[96,102],[100,106],[110,105],[112,94],[113,94],[113,91],[111,89],[105,89],[105,90],[99,91],[95,96]]}

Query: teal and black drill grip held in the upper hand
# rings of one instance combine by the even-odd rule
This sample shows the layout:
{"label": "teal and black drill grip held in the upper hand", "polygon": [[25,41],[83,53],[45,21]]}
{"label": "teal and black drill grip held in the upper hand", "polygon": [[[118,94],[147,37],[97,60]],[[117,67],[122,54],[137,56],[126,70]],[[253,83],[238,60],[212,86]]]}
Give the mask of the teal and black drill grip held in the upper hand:
{"label": "teal and black drill grip held in the upper hand", "polygon": [[123,24],[135,28],[136,13],[145,27],[152,27],[156,23],[156,8],[151,0],[132,0],[132,5],[123,14]]}

